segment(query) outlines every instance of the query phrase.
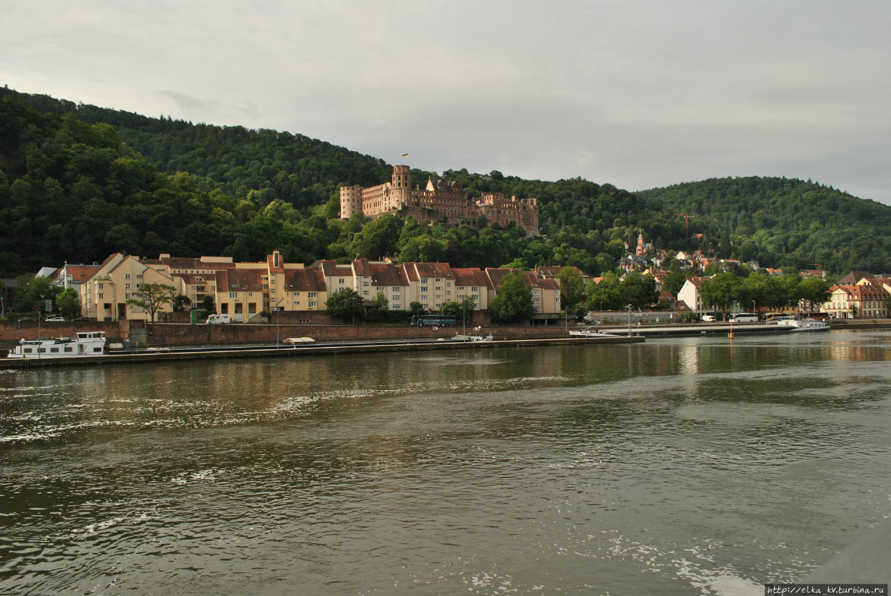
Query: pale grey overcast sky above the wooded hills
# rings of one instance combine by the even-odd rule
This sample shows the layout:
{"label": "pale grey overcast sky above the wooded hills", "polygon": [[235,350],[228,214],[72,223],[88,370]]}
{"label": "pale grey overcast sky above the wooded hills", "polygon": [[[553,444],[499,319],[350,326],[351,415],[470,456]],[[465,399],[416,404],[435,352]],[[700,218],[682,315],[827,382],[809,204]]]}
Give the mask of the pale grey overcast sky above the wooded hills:
{"label": "pale grey overcast sky above the wooded hills", "polygon": [[[891,205],[891,2],[5,2],[0,85],[442,173]],[[407,159],[402,154],[409,153]]]}

